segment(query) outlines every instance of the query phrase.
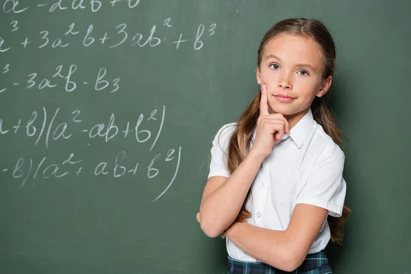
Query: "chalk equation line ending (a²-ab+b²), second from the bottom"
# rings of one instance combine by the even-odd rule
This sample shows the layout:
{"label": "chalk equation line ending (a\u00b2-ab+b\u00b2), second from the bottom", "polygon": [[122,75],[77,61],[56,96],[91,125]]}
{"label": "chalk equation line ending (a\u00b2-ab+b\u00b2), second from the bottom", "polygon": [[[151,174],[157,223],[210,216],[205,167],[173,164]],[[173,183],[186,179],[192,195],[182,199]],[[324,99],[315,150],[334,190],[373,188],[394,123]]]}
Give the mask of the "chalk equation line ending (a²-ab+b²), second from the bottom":
{"label": "chalk equation line ending (a\u00b2-ab+b\u00b2), second from the bottom", "polygon": [[[112,113],[107,121],[96,123],[91,127],[82,128],[79,132],[73,132],[71,127],[78,128],[77,125],[83,123],[80,110],[71,112],[70,120],[64,122],[58,121],[59,114],[60,108],[53,110],[52,115],[48,114],[47,108],[42,108],[42,112],[34,111],[32,112],[32,116],[26,119],[18,119],[15,123],[0,119],[0,136],[5,134],[25,134],[25,136],[34,139],[34,145],[38,145],[40,140],[43,140],[46,148],[49,148],[51,141],[59,139],[67,140],[71,138],[73,134],[85,134],[90,139],[103,138],[105,142],[109,142],[116,137],[130,137],[134,138],[138,143],[151,141],[149,149],[149,151],[151,151],[162,132],[166,106],[163,105],[161,113],[158,113],[158,110],[155,109],[148,117],[140,114],[135,121],[127,121],[127,123],[123,123],[122,125],[116,123],[115,114]],[[64,117],[66,117],[66,115],[64,115]],[[144,129],[145,123],[158,123],[158,132],[152,134],[149,129]]]}

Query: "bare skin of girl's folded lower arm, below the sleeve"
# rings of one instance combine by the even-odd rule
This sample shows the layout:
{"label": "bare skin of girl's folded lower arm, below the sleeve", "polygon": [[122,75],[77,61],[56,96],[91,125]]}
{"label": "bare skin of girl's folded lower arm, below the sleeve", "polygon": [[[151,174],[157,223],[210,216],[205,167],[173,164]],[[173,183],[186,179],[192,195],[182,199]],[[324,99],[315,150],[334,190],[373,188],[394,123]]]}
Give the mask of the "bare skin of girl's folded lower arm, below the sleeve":
{"label": "bare skin of girl's folded lower arm, below the sleeve", "polygon": [[306,258],[327,212],[324,208],[299,203],[284,231],[234,223],[227,229],[227,237],[253,258],[277,269],[294,271]]}

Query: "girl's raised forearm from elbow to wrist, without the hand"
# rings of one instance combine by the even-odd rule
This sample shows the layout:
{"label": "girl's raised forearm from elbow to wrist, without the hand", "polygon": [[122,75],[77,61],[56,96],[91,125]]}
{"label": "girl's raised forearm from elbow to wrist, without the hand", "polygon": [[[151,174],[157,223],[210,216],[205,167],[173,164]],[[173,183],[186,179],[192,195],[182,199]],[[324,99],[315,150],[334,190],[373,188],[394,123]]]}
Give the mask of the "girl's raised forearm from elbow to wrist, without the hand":
{"label": "girl's raised forearm from elbow to wrist, without the hand", "polygon": [[263,160],[264,156],[251,150],[232,175],[201,203],[201,227],[210,232],[209,236],[218,236],[234,222]]}

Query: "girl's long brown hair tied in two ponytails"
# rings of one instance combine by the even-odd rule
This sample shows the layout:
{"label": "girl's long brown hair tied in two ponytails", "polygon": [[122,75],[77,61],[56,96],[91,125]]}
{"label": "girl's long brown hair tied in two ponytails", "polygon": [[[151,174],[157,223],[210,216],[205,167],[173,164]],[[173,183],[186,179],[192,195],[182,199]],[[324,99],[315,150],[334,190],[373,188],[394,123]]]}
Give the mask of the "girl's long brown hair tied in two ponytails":
{"label": "girl's long brown hair tied in two ponytails", "polygon": [[[269,29],[260,42],[258,48],[257,66],[260,66],[262,60],[262,54],[266,44],[278,34],[292,34],[312,38],[323,53],[324,71],[323,79],[334,74],[335,60],[336,60],[336,47],[334,40],[329,34],[327,28],[321,21],[317,19],[306,18],[290,18],[284,21],[279,21],[271,29]],[[236,129],[232,137],[229,140],[228,145],[228,157],[227,168],[229,173],[233,173],[237,166],[245,159],[247,153],[249,153],[249,147],[251,144],[251,138],[253,136],[254,129],[256,129],[259,107],[260,107],[261,92],[258,92],[253,98],[253,101],[249,104],[245,112],[243,112],[237,121]],[[315,97],[311,105],[312,114],[316,123],[319,123],[324,131],[340,145],[340,130],[338,129],[332,112],[327,107],[324,97]],[[251,188],[247,193],[240,213],[238,214],[236,221],[245,222],[247,218],[251,216],[251,213],[246,209],[246,203],[251,195]],[[351,210],[344,205],[343,216],[336,218],[333,216],[327,216],[329,229],[331,230],[331,240],[341,244],[343,241],[343,224],[347,220]],[[223,232],[222,237],[225,237]]]}

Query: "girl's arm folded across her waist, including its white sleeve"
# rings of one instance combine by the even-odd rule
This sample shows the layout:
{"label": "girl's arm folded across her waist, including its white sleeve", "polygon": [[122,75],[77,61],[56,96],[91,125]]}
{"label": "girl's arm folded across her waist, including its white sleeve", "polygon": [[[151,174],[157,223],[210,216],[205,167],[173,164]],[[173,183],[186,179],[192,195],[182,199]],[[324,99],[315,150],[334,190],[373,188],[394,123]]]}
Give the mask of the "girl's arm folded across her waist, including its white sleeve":
{"label": "girl's arm folded across her waist, including its white sleeve", "polygon": [[288,227],[277,231],[234,223],[227,237],[253,258],[278,269],[294,271],[306,258],[327,214],[343,212],[346,183],[343,178],[345,156],[336,145],[321,151],[292,211]]}

